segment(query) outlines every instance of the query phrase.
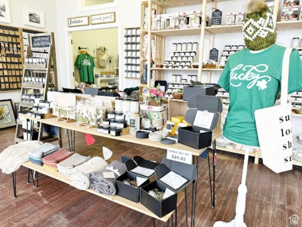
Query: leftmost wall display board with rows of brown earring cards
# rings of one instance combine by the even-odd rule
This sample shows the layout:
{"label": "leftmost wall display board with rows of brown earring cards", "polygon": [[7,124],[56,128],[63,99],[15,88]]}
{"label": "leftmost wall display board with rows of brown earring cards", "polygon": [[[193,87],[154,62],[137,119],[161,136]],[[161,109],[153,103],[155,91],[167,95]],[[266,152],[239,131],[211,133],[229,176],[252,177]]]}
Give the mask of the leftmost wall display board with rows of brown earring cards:
{"label": "leftmost wall display board with rows of brown earring cards", "polygon": [[20,28],[0,25],[0,91],[21,89],[23,45]]}

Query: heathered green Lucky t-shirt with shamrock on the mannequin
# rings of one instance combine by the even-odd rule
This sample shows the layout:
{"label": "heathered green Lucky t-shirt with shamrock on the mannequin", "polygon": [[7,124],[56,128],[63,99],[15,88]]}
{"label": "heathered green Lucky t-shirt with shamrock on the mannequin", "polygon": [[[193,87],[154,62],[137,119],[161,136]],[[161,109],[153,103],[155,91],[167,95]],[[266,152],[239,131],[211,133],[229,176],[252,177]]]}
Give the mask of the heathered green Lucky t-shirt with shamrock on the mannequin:
{"label": "heathered green Lucky t-shirt with shamrock on the mannequin", "polygon": [[[230,56],[218,84],[230,92],[223,136],[236,143],[259,147],[255,110],[274,106],[281,90],[285,47],[277,44],[260,52],[248,48]],[[302,88],[302,64],[297,50],[290,58],[288,94]]]}

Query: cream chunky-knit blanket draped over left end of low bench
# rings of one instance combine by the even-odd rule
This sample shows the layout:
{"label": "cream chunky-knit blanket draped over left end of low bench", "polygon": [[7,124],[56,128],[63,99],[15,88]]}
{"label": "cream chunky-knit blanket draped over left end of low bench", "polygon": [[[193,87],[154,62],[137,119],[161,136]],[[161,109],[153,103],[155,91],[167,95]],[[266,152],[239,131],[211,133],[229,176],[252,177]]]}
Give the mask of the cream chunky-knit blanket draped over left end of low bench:
{"label": "cream chunky-knit blanket draped over left end of low bench", "polygon": [[41,146],[41,142],[37,140],[24,141],[11,145],[0,153],[0,169],[2,173],[13,173],[20,168],[20,166],[28,161],[29,150]]}

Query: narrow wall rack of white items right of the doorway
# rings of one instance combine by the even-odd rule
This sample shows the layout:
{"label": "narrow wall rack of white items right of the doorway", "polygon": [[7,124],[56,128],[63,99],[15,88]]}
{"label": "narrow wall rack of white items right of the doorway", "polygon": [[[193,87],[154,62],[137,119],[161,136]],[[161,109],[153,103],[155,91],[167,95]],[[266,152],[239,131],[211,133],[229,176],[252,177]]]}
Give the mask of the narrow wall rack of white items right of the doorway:
{"label": "narrow wall rack of white items right of the doorway", "polygon": [[140,28],[125,28],[125,77],[140,78]]}

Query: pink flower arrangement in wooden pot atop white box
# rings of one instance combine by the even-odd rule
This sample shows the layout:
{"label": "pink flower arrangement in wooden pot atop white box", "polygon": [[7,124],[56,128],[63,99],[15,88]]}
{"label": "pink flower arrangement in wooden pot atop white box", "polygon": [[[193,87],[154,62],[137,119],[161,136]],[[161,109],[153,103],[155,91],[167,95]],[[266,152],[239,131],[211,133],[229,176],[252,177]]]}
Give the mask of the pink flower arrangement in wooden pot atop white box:
{"label": "pink flower arrangement in wooden pot atop white box", "polygon": [[161,106],[165,92],[160,90],[160,85],[158,84],[157,87],[153,88],[145,87],[140,97],[146,99],[146,103],[149,106]]}

